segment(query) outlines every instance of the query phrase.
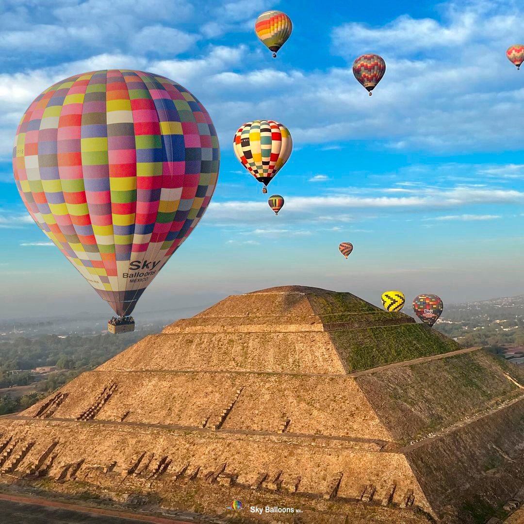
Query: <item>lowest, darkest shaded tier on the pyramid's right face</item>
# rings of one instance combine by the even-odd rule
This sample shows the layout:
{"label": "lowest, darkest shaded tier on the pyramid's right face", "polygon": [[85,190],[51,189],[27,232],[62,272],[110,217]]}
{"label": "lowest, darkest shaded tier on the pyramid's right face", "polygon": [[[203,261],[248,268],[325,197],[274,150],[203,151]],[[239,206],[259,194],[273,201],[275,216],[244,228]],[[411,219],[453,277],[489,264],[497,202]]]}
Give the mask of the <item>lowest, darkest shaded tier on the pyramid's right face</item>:
{"label": "lowest, darkest shaded tier on the pyramid's right face", "polygon": [[405,453],[432,506],[441,511],[452,505],[465,519],[468,507],[485,504],[496,509],[522,487],[523,451],[521,399],[455,431],[408,446]]}

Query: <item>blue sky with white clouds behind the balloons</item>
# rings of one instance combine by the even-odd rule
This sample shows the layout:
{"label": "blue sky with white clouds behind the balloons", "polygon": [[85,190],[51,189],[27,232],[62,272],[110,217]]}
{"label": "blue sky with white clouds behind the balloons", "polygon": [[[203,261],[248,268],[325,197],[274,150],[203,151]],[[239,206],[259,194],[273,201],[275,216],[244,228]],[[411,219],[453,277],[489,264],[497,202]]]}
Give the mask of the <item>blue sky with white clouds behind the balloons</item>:
{"label": "blue sky with white clouds behind the balloons", "polygon": [[[386,289],[444,303],[524,293],[524,39],[513,0],[351,3],[0,0],[0,316],[111,310],[32,222],[10,161],[30,102],[53,82],[132,68],[181,83],[219,132],[204,219],[135,310],[301,284],[376,304]],[[274,60],[253,32],[276,8],[293,33]],[[374,92],[353,77],[376,52]],[[294,148],[269,186],[234,157],[239,125],[285,124]],[[348,260],[342,241],[355,245]],[[81,306],[81,308],[80,308]]]}

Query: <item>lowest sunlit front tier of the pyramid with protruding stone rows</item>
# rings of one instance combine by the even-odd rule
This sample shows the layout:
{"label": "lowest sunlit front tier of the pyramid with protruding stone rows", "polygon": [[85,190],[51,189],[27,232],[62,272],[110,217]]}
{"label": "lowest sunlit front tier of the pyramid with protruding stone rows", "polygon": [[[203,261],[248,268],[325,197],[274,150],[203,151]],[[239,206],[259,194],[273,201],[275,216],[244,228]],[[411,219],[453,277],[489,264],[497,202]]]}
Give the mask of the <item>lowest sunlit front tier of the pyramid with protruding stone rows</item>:
{"label": "lowest sunlit front tier of the pyramid with protruding stone rows", "polygon": [[[245,488],[292,494],[296,504],[311,499],[362,500],[384,506],[414,504],[430,510],[405,456],[354,449],[351,442],[285,435],[248,439],[226,432],[54,420],[10,424],[2,420],[0,431],[3,438],[14,435],[17,446],[34,442],[16,468],[18,475],[29,471],[58,442],[53,450],[56,457],[46,472],[52,479],[117,489],[126,474],[136,473],[150,481],[157,475],[170,481],[168,492],[176,492],[174,481],[179,477],[208,484],[223,479]],[[91,470],[104,468],[111,474],[90,478]],[[158,494],[165,495],[162,489]]]}

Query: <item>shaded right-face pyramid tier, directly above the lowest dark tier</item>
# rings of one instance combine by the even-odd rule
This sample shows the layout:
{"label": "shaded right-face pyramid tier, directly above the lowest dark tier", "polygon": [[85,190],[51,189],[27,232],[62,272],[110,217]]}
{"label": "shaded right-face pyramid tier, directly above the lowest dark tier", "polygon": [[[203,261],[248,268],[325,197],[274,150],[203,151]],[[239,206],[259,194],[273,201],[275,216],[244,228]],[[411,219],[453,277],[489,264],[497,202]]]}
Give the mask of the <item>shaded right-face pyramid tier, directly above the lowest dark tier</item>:
{"label": "shaded right-face pyramid tier, directly above the lowest dark tier", "polygon": [[408,443],[493,405],[520,389],[524,370],[479,350],[356,378],[395,440]]}

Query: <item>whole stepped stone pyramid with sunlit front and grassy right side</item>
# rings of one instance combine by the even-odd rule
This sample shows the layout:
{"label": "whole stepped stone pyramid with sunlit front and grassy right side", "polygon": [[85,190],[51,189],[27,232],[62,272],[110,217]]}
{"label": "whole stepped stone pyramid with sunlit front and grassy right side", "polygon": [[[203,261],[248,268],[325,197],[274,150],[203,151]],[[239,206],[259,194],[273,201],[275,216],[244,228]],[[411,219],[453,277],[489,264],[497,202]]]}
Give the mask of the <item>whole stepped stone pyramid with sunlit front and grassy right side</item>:
{"label": "whole stepped stone pyramid with sunlit front and grassy right side", "polygon": [[0,482],[235,522],[480,521],[524,479],[521,384],[517,366],[351,293],[270,288],[1,417]]}

